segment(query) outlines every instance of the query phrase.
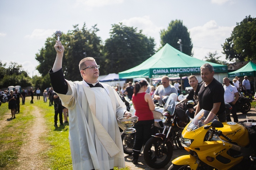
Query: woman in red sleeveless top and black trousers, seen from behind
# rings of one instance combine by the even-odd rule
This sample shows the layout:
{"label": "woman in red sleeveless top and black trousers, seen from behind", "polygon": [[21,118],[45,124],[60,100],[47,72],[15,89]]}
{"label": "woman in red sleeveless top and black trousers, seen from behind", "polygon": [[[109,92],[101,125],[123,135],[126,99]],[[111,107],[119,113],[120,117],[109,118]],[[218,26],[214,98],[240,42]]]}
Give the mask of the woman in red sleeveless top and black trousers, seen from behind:
{"label": "woman in red sleeveless top and black trousers, seen from behind", "polygon": [[132,103],[136,109],[135,115],[139,117],[138,122],[134,125],[136,134],[132,148],[133,164],[138,163],[142,146],[145,145],[146,141],[154,133],[154,117],[152,111],[154,111],[155,105],[150,94],[145,93],[147,86],[147,82],[141,80],[135,84],[133,89]]}

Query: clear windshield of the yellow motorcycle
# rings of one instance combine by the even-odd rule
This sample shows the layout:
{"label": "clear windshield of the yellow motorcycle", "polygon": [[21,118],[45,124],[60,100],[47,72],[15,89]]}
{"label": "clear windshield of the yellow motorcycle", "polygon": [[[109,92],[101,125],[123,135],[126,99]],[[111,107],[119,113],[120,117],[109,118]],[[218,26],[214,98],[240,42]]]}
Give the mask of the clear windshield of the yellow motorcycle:
{"label": "clear windshield of the yellow motorcycle", "polygon": [[205,124],[211,123],[213,120],[219,119],[214,113],[202,109],[189,123],[187,128],[191,130],[196,130],[204,126]]}

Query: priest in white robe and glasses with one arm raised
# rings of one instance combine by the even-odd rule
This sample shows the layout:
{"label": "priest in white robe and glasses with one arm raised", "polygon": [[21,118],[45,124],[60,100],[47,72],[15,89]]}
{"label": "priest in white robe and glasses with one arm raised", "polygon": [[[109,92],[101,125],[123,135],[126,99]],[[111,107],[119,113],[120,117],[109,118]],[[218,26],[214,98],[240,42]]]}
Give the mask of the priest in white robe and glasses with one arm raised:
{"label": "priest in white robe and glasses with one arm raised", "polygon": [[[125,167],[123,143],[117,117],[130,117],[114,88],[98,81],[99,68],[93,57],[79,63],[82,81],[65,80],[62,70],[64,47],[54,46],[57,56],[49,71],[52,86],[69,109],[69,143],[73,169]],[[60,49],[60,51],[58,50]]]}

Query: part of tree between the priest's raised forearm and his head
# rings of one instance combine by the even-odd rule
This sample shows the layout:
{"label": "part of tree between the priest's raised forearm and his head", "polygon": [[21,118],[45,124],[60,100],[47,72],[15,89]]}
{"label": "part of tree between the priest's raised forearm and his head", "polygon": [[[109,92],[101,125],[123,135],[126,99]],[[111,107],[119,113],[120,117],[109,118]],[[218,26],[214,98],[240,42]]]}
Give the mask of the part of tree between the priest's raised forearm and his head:
{"label": "part of tree between the priest's raised forearm and his head", "polygon": [[101,64],[102,45],[100,37],[96,35],[99,31],[97,25],[87,29],[84,23],[82,29],[78,25],[74,30],[68,32],[69,41],[65,45],[65,57],[63,60],[63,71],[68,80],[82,80],[79,72],[79,62],[85,57],[94,57],[97,64]]}

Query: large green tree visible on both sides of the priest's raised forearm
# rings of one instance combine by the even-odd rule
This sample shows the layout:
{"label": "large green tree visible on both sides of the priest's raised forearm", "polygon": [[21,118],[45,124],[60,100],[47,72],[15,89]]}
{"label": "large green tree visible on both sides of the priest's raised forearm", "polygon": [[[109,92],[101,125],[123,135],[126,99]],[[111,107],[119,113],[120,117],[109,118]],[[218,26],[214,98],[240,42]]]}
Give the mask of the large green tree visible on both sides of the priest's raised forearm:
{"label": "large green tree visible on both sides of the priest's raised forearm", "polygon": [[[84,57],[101,57],[102,45],[100,37],[96,35],[99,31],[96,25],[91,29],[87,29],[85,23],[80,30],[78,24],[73,26],[74,30],[69,30],[67,34],[62,33],[60,37],[61,44],[65,48],[62,61],[62,69],[67,80],[76,81],[81,80],[79,73],[79,62]],[[54,49],[56,36],[53,34],[52,37],[48,37],[39,53],[36,54],[35,59],[39,61],[37,70],[42,74],[43,77],[48,74],[48,71],[53,67],[56,50]],[[97,61],[98,64],[100,62]]]}

